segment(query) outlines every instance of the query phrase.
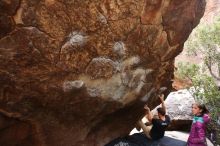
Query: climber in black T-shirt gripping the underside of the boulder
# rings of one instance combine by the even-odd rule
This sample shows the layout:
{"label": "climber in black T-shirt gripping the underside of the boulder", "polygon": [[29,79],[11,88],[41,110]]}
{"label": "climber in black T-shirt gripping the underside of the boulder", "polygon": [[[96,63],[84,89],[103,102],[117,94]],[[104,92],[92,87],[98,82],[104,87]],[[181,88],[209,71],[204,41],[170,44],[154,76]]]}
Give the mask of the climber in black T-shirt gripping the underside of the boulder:
{"label": "climber in black T-shirt gripping the underside of the boulder", "polygon": [[166,115],[166,106],[164,103],[164,95],[159,96],[162,107],[157,108],[158,117],[153,117],[149,107],[144,106],[146,110],[146,118],[151,124],[146,126],[141,120],[137,122],[137,125],[143,129],[144,134],[151,140],[158,140],[164,136],[165,129],[170,123],[170,117]]}

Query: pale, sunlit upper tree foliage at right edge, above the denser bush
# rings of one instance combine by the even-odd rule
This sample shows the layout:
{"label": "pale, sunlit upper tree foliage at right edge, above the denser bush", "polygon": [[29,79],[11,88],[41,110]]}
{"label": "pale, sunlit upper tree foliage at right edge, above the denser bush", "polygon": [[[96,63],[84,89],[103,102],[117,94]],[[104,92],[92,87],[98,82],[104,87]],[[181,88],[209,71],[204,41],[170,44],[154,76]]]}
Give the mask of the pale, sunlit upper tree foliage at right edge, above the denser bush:
{"label": "pale, sunlit upper tree foliage at right edge, above the denser bush", "polygon": [[213,78],[220,81],[220,17],[212,24],[200,24],[185,43],[188,55],[202,55]]}

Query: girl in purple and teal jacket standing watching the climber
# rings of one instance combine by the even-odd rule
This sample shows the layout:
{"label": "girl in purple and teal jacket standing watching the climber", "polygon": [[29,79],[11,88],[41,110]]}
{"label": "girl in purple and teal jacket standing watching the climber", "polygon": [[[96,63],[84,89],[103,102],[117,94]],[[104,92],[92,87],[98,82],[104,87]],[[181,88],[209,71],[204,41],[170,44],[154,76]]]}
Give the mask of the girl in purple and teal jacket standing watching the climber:
{"label": "girl in purple and teal jacket standing watching the climber", "polygon": [[194,103],[192,113],[194,117],[187,146],[207,146],[205,131],[206,125],[210,121],[209,111],[204,104]]}

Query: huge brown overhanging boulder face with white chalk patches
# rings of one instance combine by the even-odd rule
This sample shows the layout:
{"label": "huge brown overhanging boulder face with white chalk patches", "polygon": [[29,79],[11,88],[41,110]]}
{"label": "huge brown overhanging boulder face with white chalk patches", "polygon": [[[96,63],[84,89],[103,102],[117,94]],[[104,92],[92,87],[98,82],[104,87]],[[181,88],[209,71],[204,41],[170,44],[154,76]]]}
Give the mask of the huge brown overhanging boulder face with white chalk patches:
{"label": "huge brown overhanging boulder face with white chalk patches", "polygon": [[128,134],[160,88],[169,92],[174,58],[205,0],[0,7],[0,144],[102,146]]}

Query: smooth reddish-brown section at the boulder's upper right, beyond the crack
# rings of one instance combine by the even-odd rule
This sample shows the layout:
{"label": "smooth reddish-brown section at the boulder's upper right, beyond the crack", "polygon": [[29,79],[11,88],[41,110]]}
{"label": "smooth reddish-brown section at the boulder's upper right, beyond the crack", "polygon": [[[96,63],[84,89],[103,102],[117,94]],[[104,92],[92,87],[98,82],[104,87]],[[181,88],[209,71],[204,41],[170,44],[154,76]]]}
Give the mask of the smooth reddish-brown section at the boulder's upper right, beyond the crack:
{"label": "smooth reddish-brown section at the boulder's upper right, beyond the crack", "polygon": [[[170,46],[182,44],[190,32],[203,16],[205,1],[171,0],[167,10],[163,13],[163,26],[167,32]],[[193,11],[192,11],[193,10]],[[181,47],[182,48],[182,47]]]}

